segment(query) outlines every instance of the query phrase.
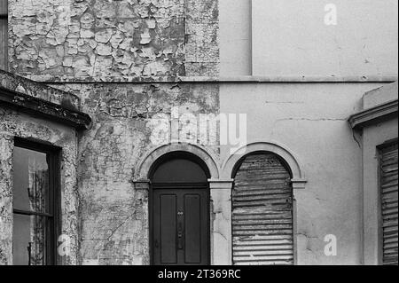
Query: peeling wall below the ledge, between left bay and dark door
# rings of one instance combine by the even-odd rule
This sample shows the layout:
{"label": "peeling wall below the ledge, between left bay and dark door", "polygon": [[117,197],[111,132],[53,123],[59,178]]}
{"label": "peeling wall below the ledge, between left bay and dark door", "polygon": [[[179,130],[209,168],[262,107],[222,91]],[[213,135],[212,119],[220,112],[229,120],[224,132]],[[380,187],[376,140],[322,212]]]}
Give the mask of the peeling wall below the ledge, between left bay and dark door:
{"label": "peeling wall below the ledge, between left bay and dark door", "polygon": [[[219,112],[217,85],[65,84],[79,93],[93,127],[79,143],[82,264],[149,264],[148,192],[132,179],[140,159],[154,147],[159,114]],[[180,129],[183,124],[179,124]],[[203,145],[217,154],[215,145]]]}

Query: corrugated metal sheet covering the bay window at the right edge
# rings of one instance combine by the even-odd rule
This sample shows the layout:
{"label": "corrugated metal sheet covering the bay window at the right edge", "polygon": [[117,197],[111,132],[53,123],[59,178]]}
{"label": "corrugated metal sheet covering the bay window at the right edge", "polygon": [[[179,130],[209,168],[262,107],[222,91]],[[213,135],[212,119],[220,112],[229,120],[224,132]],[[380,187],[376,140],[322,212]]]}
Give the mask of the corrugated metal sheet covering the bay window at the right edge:
{"label": "corrugated metal sheet covering the bay window at the right edge", "polygon": [[382,263],[398,264],[397,261],[397,187],[398,144],[380,150],[380,187],[382,210]]}

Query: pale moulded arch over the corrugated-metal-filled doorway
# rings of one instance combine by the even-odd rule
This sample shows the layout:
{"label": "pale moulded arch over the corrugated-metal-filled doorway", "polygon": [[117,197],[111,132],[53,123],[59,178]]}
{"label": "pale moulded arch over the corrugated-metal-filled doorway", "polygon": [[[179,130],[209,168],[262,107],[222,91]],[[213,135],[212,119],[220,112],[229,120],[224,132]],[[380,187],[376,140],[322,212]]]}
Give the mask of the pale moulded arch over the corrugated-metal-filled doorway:
{"label": "pale moulded arch over the corrugated-metal-filled doorway", "polygon": [[231,178],[234,169],[239,164],[239,161],[241,161],[246,155],[256,152],[269,152],[277,154],[282,160],[286,161],[287,166],[291,170],[293,189],[305,188],[307,180],[297,158],[295,158],[293,153],[290,153],[290,151],[288,151],[284,146],[270,142],[254,142],[239,148],[236,151],[237,154],[231,154],[231,156],[224,161],[221,171],[221,178]]}

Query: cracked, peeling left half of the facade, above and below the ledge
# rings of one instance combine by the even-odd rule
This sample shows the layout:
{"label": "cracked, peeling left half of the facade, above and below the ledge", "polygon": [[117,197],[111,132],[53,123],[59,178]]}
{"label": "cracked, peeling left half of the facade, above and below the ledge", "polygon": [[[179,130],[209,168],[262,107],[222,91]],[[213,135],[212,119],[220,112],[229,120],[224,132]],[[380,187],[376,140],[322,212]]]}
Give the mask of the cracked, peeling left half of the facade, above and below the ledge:
{"label": "cracked, peeling left half of the facade, above and below the ledge", "polygon": [[[12,72],[54,83],[93,120],[79,137],[74,176],[78,263],[148,264],[148,192],[135,189],[132,177],[159,146],[152,118],[170,117],[172,107],[217,115],[219,87],[130,82],[217,76],[218,1],[9,0],[9,13]],[[206,148],[217,154],[218,134],[211,135],[215,144]]]}

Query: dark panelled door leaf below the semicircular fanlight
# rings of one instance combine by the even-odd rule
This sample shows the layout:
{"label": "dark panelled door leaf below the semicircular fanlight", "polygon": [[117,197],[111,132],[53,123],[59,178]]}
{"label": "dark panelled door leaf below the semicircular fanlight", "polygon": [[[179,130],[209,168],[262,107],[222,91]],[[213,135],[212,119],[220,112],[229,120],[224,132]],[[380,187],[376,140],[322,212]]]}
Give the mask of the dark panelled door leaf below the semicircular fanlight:
{"label": "dark panelled door leaf below the semicircular fanlight", "polygon": [[207,189],[153,190],[153,263],[209,264]]}

